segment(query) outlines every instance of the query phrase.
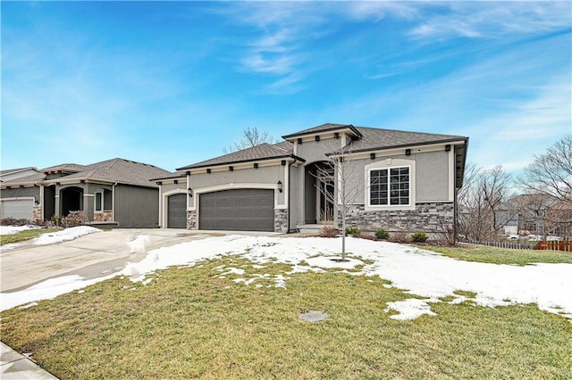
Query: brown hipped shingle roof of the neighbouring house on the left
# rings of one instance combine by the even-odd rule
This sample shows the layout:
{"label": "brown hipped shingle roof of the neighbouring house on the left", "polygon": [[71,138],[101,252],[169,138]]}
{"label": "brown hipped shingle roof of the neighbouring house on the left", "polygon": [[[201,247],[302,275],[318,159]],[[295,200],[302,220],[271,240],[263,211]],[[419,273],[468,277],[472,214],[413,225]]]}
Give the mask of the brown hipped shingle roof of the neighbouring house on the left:
{"label": "brown hipped shingle roof of the neighbouring house on the left", "polygon": [[110,182],[118,182],[127,185],[155,187],[150,182],[152,178],[168,176],[170,171],[157,168],[154,165],[129,161],[122,158],[114,158],[107,161],[96,162],[83,167],[84,169],[52,181],[68,181],[70,179],[99,179]]}

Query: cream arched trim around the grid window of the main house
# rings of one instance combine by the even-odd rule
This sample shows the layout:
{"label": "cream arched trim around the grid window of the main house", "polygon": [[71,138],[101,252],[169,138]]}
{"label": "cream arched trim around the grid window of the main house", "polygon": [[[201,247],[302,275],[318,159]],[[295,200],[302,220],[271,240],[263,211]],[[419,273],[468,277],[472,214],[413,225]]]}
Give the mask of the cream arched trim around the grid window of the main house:
{"label": "cream arched trim around the grid window of the main house", "polygon": [[[365,200],[364,206],[366,211],[407,211],[415,210],[416,205],[416,165],[413,160],[402,159],[384,159],[381,161],[372,162],[365,167]],[[388,188],[388,204],[371,204],[371,173],[374,170],[390,170],[408,168],[409,169],[409,203],[408,204],[389,204],[390,191]],[[390,173],[388,172],[388,176]]]}

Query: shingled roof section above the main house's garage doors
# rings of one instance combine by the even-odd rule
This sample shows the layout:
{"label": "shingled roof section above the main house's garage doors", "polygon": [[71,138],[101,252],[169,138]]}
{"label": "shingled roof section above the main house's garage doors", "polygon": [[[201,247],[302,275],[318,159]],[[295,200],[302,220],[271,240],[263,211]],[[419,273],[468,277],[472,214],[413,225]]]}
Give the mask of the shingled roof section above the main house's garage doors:
{"label": "shingled roof section above the main house's garage doors", "polygon": [[205,168],[207,166],[223,165],[227,163],[230,164],[247,161],[270,160],[282,157],[293,157],[293,145],[288,141],[283,141],[282,143],[273,145],[268,143],[256,145],[238,152],[215,157],[211,160],[201,161],[192,165],[184,166],[182,168],[178,168],[177,170],[198,169]]}

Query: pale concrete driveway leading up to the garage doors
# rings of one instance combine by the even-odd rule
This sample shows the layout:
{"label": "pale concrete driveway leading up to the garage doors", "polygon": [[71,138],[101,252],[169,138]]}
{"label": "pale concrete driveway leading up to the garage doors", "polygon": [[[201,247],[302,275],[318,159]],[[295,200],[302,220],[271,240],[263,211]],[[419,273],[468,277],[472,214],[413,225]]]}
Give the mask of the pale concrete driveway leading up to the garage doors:
{"label": "pale concrete driveway leading up to the garage doors", "polygon": [[96,278],[119,271],[128,262],[145,258],[146,252],[131,252],[127,244],[139,235],[149,237],[147,251],[150,251],[223,234],[168,228],[118,228],[58,244],[22,244],[0,253],[0,292],[15,292],[53,277]]}

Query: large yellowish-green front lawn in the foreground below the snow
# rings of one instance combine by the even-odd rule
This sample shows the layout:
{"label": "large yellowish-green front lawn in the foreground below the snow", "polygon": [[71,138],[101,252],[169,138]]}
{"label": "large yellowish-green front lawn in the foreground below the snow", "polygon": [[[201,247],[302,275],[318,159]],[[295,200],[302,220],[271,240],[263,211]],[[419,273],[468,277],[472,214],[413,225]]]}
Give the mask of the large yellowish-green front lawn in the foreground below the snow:
{"label": "large yellowish-green front lawn in the foreground below the snow", "polygon": [[[221,277],[229,267],[246,274]],[[114,278],[4,311],[0,332],[62,379],[572,377],[572,324],[535,305],[432,303],[436,317],[396,321],[386,302],[411,295],[381,278],[289,268],[228,258],[149,285]],[[270,276],[232,281],[257,274]],[[329,317],[301,320],[309,310]]]}

